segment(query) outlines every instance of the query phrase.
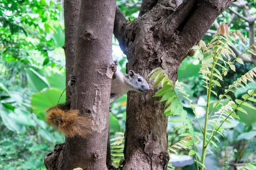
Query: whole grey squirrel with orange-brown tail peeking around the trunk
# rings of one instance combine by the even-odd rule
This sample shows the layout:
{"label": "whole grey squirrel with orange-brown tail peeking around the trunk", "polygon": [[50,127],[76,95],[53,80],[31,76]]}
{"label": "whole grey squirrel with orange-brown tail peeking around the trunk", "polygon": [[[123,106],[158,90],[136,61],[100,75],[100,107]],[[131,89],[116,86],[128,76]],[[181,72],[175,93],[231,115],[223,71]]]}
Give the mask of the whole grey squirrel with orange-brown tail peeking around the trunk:
{"label": "whole grey squirrel with orange-brown tail peeking around the trunk", "polygon": [[[113,61],[118,65],[118,61]],[[70,74],[69,86],[75,84],[75,76]],[[116,69],[112,76],[110,104],[128,91],[143,92],[148,91],[149,85],[139,74],[130,70],[128,74]],[[79,115],[78,110],[70,110],[71,102],[66,102],[49,108],[47,110],[46,121],[55,129],[61,131],[67,137],[82,136],[90,133],[91,119],[89,116]],[[111,111],[111,106],[110,106]]]}

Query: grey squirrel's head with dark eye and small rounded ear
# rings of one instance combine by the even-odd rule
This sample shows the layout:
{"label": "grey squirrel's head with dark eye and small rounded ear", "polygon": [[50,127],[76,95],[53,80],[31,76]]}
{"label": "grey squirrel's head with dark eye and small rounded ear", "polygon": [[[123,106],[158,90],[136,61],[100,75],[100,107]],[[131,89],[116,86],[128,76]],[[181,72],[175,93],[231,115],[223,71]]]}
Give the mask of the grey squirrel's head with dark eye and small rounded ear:
{"label": "grey squirrel's head with dark eye and small rounded ear", "polygon": [[143,92],[149,90],[149,85],[146,80],[139,74],[135,74],[132,70],[128,73],[128,84],[133,91]]}

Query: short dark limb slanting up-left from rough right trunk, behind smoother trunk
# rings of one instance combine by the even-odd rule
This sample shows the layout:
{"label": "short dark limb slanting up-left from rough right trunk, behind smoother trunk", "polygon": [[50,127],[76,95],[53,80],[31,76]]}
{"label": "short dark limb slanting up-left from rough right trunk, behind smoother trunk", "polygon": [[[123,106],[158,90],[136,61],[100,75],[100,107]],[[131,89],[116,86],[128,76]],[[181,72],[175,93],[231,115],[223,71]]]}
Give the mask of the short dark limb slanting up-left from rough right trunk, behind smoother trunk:
{"label": "short dark limb slanting up-left from rough right trunk, behind smoother trunk", "polygon": [[119,46],[124,54],[126,54],[125,41],[124,41],[125,23],[127,23],[125,16],[122,14],[122,11],[120,10],[120,8],[118,6],[116,6],[113,34],[115,35],[116,39],[118,40]]}

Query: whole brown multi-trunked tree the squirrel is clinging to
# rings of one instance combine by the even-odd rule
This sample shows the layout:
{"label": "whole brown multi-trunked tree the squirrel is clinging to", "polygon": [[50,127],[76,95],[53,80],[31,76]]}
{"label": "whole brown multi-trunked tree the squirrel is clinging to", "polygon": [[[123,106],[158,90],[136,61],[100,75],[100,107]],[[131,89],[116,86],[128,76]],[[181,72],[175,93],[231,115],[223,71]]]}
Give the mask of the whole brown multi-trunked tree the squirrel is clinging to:
{"label": "whole brown multi-trunked tree the squirrel is clinging to", "polygon": [[[128,58],[128,70],[145,77],[163,68],[173,82],[177,70],[218,15],[235,0],[143,0],[139,17],[128,21],[115,0],[64,0],[66,79],[71,109],[91,119],[85,138],[65,139],[45,156],[49,170],[105,170],[111,88],[112,34]],[[67,82],[66,81],[66,82]],[[152,86],[153,82],[149,82]],[[168,117],[164,103],[147,93],[128,92],[123,170],[166,170]]]}

